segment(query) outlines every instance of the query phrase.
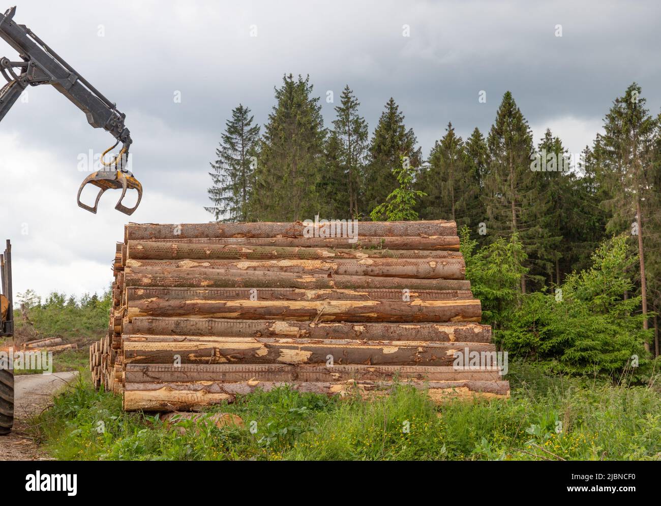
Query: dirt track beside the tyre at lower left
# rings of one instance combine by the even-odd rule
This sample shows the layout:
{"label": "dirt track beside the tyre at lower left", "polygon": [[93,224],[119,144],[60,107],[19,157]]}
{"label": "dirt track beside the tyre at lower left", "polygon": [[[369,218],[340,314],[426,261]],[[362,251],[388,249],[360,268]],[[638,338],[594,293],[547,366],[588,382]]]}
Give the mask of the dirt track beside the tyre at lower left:
{"label": "dirt track beside the tyre at lower left", "polygon": [[55,392],[75,379],[77,372],[15,377],[14,429],[0,436],[0,460],[42,460],[48,458],[26,433],[27,420],[50,406]]}

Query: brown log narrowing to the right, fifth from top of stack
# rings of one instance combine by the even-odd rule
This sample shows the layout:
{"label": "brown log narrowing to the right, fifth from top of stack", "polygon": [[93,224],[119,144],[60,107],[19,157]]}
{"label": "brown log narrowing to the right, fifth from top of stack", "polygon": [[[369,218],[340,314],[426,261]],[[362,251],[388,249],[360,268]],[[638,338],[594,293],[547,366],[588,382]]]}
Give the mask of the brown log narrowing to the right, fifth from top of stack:
{"label": "brown log narrowing to the right, fifth from top of stack", "polygon": [[240,272],[227,269],[137,267],[126,268],[126,286],[470,290],[471,282],[460,279],[410,279],[403,277],[344,276],[292,272]]}

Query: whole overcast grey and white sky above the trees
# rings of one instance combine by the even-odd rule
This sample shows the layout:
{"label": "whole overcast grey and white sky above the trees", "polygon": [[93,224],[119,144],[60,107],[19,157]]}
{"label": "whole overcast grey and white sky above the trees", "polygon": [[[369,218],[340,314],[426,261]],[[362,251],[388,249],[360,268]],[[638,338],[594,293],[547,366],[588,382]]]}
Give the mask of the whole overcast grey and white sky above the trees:
{"label": "whole overcast grey and white sky above the trees", "polygon": [[[263,124],[284,73],[310,75],[327,126],[327,90],[338,100],[348,84],[370,133],[393,96],[425,156],[449,121],[464,137],[486,134],[506,90],[535,142],[551,127],[572,153],[632,81],[654,114],[661,104],[657,1],[43,0],[20,1],[14,19],[126,114],[145,188],[130,218],[114,192],[97,215],[77,207],[80,157],[112,137],[56,90],[30,87],[0,126],[0,239],[13,242],[15,293],[103,291],[129,219],[209,221],[208,163],[225,120],[241,102]],[[2,40],[1,56],[18,59]]]}

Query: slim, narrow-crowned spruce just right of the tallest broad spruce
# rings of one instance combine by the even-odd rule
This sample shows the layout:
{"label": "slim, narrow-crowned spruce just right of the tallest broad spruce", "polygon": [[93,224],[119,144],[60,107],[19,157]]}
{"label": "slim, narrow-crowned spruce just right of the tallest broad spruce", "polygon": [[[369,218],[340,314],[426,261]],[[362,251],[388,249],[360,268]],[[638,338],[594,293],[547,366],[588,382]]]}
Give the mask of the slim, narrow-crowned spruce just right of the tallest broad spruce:
{"label": "slim, narrow-crowned spruce just right of the tallest broad spruce", "polygon": [[[346,173],[346,211],[348,217],[360,214],[358,201],[364,183],[364,162],[368,149],[368,125],[358,114],[360,102],[348,85],[342,90],[340,105],[335,106],[336,119],[332,122],[340,143],[340,163]],[[340,211],[340,209],[338,209]]]}

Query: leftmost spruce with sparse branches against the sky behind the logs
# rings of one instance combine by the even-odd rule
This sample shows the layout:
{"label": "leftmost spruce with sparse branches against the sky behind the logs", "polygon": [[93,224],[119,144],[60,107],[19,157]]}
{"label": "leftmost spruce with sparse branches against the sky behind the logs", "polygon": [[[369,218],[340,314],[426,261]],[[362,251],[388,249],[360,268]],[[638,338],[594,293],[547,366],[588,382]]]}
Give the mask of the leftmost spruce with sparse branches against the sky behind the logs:
{"label": "leftmost spruce with sparse branches against the sky behind the logs", "polygon": [[259,126],[253,125],[251,110],[239,104],[225,122],[213,172],[207,211],[215,221],[247,221],[248,200],[253,190],[255,148],[259,140]]}

